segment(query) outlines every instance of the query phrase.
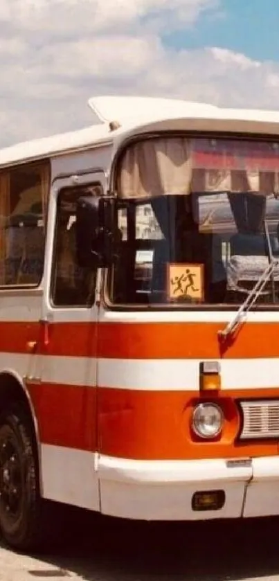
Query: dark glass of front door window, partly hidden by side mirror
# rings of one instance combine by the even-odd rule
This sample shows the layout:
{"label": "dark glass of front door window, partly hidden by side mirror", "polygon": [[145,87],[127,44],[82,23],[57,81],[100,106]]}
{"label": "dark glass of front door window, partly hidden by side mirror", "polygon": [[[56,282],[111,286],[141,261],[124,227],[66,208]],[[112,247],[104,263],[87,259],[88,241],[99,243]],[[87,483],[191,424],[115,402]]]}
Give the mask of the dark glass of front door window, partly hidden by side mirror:
{"label": "dark glass of front door window, partly hidden by side mirror", "polygon": [[51,295],[55,307],[91,307],[97,271],[80,267],[76,257],[75,220],[78,199],[94,195],[101,184],[63,188],[57,197]]}

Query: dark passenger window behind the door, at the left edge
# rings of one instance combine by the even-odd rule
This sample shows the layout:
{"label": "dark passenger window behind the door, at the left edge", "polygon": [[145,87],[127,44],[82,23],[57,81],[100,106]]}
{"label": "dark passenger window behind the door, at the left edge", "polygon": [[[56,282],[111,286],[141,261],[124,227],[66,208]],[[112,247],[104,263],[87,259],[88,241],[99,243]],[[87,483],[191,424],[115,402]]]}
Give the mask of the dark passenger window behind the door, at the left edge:
{"label": "dark passenger window behind the door, at the left edge", "polygon": [[48,163],[0,174],[0,286],[37,286],[44,271]]}

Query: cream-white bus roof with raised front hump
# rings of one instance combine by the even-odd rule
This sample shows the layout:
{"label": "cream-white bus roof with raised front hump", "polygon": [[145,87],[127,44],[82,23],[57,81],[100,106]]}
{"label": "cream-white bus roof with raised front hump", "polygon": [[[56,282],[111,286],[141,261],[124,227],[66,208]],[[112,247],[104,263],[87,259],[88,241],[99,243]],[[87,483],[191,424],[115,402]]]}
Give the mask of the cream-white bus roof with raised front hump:
{"label": "cream-white bus roof with raised front hump", "polygon": [[[237,121],[237,128],[240,128],[243,122],[243,131],[258,132],[260,127],[261,133],[279,136],[279,111],[226,109],[186,100],[132,96],[91,98],[89,107],[98,118],[96,125],[4,148],[0,150],[0,168],[89,149],[93,145],[111,143],[115,134],[119,136],[127,132],[127,129],[131,131],[133,128],[138,129],[166,119],[199,119],[205,122],[209,120],[213,127],[214,121],[222,122],[224,130],[226,122],[228,127],[233,127],[233,123]],[[111,123],[114,123],[115,130]],[[220,123],[217,123],[218,125],[220,126]]]}

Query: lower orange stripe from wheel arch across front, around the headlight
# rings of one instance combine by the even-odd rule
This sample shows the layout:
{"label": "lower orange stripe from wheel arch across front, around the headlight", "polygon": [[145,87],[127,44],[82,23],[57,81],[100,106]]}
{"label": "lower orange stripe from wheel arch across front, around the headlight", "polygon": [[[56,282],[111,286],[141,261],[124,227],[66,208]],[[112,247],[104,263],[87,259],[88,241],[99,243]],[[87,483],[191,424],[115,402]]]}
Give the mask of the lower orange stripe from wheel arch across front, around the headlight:
{"label": "lower orange stripe from wheel arch across front, around the headlight", "polygon": [[[201,442],[190,431],[195,392],[41,384],[29,386],[42,443],[145,460],[233,458],[278,454],[278,442],[239,443],[240,425],[234,399],[247,392],[222,392],[225,422],[222,437]],[[279,389],[249,391],[249,397],[279,397]],[[210,400],[213,400],[210,395]],[[98,401],[98,417],[97,417]],[[98,424],[98,425],[97,425]]]}

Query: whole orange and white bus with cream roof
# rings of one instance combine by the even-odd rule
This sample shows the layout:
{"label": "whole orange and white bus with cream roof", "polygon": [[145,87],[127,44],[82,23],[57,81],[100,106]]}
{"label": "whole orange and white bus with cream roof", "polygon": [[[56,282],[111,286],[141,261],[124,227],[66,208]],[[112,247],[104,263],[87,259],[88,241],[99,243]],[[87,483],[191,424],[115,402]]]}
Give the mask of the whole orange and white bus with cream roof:
{"label": "whole orange and white bus with cream roof", "polygon": [[279,113],[100,97],[0,151],[0,527],[279,514]]}

